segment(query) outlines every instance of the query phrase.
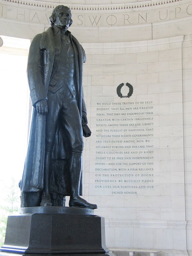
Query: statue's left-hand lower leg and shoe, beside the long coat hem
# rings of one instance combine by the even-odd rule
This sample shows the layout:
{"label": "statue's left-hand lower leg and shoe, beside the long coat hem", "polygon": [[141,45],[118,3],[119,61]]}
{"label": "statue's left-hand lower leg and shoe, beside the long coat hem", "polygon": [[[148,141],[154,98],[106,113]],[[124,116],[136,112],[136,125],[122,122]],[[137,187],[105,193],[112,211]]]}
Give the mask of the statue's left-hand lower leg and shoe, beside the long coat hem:
{"label": "statue's left-hand lower leg and shoe, beside the long coat hem", "polygon": [[50,187],[50,179],[51,179],[51,153],[45,152],[45,160],[44,160],[44,186],[42,193],[42,200],[40,206],[51,206],[51,197],[49,192]]}

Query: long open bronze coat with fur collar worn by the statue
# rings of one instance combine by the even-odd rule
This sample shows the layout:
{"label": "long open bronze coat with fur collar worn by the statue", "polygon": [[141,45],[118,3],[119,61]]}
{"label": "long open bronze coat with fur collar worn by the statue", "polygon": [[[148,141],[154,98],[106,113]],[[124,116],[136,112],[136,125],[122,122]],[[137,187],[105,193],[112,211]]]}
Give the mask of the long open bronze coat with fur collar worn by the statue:
{"label": "long open bronze coat with fur collar worn by the statue", "polygon": [[[76,100],[79,113],[82,115],[82,111],[86,112],[82,87],[83,62],[86,61],[86,56],[77,39],[72,36],[69,31],[68,34],[74,48],[77,92]],[[28,151],[20,183],[20,189],[22,192],[38,192],[43,189],[45,116],[40,116],[37,113],[35,104],[39,100],[47,99],[47,91],[51,80],[51,74],[54,73],[52,72],[52,69],[57,67],[57,63],[54,59],[59,61],[60,50],[60,30],[55,26],[53,28],[48,28],[47,31],[42,34],[36,35],[29,49],[27,75],[30,97],[34,109],[31,121]],[[67,155],[68,152],[65,147],[65,141],[63,141],[63,138],[60,138],[60,132],[57,131],[52,159],[66,159],[68,157]],[[81,189],[82,184],[80,186],[80,190]],[[81,191],[80,194],[82,194]]]}

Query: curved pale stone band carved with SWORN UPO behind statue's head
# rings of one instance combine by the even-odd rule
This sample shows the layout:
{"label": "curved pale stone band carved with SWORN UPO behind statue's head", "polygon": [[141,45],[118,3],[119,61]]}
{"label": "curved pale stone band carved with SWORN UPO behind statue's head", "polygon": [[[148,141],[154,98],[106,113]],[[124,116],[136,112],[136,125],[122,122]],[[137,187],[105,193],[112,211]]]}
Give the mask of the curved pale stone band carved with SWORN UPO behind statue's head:
{"label": "curved pale stone band carved with SWORN UPO behind statue's head", "polygon": [[[165,6],[162,6],[165,7]],[[8,9],[7,9],[8,8]],[[85,26],[85,27],[108,27],[108,26],[127,26],[161,22],[164,20],[175,20],[180,18],[189,17],[192,15],[192,4],[180,4],[179,6],[167,6],[165,8],[156,8],[145,11],[141,8],[139,10],[134,9],[134,12],[130,9],[128,12],[114,11],[109,13],[97,13],[90,14],[80,10],[78,13],[73,13],[73,26]],[[7,5],[0,5],[0,17],[7,18],[8,20],[27,21],[31,23],[40,23],[49,26],[49,17],[52,9],[48,11],[42,11],[40,8],[30,9],[30,6],[26,8],[20,8]],[[73,9],[71,10],[73,12]]]}

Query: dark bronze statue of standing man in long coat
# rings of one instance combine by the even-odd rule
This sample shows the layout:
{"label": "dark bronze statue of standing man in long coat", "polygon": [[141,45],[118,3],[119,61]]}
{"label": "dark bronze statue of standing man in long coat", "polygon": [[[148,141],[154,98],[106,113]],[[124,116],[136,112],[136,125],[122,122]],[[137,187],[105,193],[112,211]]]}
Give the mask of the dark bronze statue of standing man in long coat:
{"label": "dark bronze statue of standing man in long coat", "polygon": [[[34,37],[28,56],[28,84],[34,109],[20,182],[21,206],[63,205],[57,203],[62,200],[56,199],[70,195],[69,206],[96,209],[96,204],[79,196],[83,135],[89,131],[82,87],[86,56],[68,31],[72,19],[67,6],[59,5],[53,10],[50,24],[47,31]],[[65,172],[67,193],[62,184]]]}

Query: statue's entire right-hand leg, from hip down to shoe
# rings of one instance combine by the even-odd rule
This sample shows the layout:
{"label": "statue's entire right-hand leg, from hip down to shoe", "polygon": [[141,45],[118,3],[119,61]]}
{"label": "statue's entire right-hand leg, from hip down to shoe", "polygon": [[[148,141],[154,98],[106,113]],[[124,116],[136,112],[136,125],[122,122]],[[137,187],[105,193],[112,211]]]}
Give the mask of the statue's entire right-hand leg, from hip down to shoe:
{"label": "statue's entire right-hand leg, from hip down to shoe", "polygon": [[76,100],[68,97],[68,108],[64,106],[61,112],[61,122],[64,136],[67,136],[69,157],[70,200],[69,206],[96,209],[96,204],[90,204],[79,196],[79,186],[82,172],[82,152],[84,147],[81,117]]}

